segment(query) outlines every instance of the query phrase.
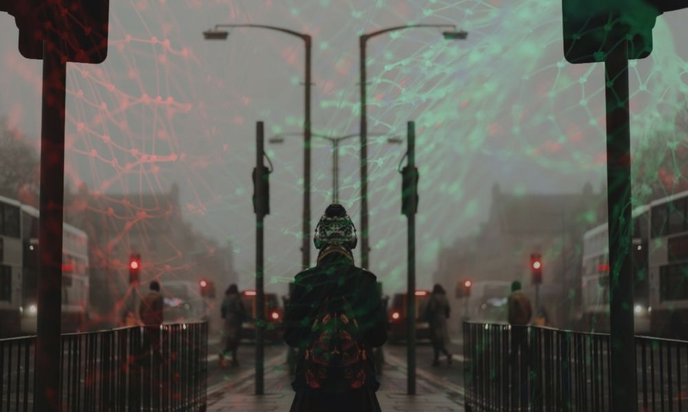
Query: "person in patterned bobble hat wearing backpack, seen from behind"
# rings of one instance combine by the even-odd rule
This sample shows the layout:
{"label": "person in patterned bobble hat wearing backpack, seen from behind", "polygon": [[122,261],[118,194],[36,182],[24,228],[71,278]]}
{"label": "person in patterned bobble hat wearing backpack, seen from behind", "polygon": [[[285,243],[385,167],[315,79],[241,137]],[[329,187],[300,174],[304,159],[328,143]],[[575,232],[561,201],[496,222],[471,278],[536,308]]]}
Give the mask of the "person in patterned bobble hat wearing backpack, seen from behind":
{"label": "person in patterned bobble hat wearing backpack, seen from behind", "polygon": [[284,340],[299,349],[291,412],[378,412],[373,347],[387,341],[376,277],[354,266],[356,229],[342,205],[315,230],[318,262],[297,275]]}

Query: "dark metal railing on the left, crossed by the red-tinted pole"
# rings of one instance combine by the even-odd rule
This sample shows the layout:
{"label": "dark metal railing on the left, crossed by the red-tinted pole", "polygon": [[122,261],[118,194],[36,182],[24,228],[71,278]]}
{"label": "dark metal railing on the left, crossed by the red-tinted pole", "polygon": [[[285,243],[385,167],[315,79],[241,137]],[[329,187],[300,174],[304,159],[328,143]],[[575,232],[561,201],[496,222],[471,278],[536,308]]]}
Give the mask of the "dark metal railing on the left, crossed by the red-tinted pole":
{"label": "dark metal railing on the left, crossed by the red-tinted pole", "polygon": [[[0,412],[33,411],[36,337],[0,340]],[[204,411],[208,323],[62,335],[63,411]]]}

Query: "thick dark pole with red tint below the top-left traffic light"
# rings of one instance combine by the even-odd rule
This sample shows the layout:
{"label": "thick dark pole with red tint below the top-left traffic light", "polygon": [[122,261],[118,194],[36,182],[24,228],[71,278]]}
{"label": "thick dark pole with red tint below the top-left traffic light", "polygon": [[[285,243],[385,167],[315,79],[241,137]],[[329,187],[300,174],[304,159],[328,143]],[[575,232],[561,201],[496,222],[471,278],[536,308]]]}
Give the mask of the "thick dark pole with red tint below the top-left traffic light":
{"label": "thick dark pole with red tint below the top-left traffic light", "polygon": [[67,63],[43,46],[35,411],[60,411]]}

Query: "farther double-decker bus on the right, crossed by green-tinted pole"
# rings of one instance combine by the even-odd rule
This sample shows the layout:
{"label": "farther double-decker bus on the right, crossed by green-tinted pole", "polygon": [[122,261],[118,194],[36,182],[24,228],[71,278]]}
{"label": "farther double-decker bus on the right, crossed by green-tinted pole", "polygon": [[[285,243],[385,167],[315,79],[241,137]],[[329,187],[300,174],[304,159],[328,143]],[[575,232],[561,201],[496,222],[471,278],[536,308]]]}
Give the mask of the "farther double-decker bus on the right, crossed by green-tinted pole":
{"label": "farther double-decker bus on the right, crossed by green-tinted pole", "polygon": [[[632,213],[632,276],[634,325],[638,334],[651,330],[654,305],[649,299],[648,242],[649,206],[636,207]],[[609,332],[609,233],[607,223],[583,234],[582,327],[595,332]]]}

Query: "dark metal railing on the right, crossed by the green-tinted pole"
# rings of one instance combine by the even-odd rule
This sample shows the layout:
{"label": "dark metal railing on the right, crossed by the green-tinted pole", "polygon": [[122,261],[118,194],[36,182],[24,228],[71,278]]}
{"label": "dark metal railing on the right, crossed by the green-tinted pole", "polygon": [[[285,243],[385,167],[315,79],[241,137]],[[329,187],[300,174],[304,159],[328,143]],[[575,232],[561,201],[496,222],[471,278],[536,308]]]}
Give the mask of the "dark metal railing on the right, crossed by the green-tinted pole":
{"label": "dark metal railing on the right, crossed by the green-tinted pole", "polygon": [[[612,410],[608,334],[464,322],[464,358],[466,411]],[[688,412],[688,342],[636,336],[636,365],[638,410]]]}

